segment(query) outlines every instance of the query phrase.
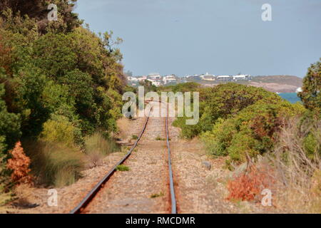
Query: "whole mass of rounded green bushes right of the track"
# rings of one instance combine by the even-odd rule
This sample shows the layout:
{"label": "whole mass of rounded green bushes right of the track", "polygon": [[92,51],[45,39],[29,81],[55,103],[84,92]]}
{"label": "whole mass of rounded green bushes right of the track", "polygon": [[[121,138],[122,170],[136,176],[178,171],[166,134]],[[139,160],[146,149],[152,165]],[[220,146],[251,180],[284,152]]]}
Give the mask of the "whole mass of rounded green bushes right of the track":
{"label": "whole mass of rounded green bushes right of the track", "polygon": [[273,150],[283,120],[305,112],[299,103],[290,104],[263,88],[226,83],[197,90],[199,123],[185,125],[185,118],[178,118],[173,125],[185,138],[200,135],[210,155],[228,155],[228,164]]}

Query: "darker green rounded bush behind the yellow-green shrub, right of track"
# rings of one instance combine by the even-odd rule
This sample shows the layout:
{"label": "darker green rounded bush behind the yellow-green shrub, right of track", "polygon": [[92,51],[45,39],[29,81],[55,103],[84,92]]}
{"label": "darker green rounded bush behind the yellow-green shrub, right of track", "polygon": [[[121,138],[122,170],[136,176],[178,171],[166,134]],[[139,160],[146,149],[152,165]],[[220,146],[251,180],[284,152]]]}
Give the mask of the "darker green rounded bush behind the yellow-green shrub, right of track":
{"label": "darker green rounded bush behind the yellow-green shrub, right of track", "polygon": [[[193,86],[195,88],[195,86]],[[263,88],[227,83],[214,88],[195,88],[200,92],[200,121],[197,125],[185,125],[185,118],[178,118],[174,125],[182,128],[184,138],[193,138],[211,130],[219,118],[227,119],[258,100],[280,101],[280,96]]]}

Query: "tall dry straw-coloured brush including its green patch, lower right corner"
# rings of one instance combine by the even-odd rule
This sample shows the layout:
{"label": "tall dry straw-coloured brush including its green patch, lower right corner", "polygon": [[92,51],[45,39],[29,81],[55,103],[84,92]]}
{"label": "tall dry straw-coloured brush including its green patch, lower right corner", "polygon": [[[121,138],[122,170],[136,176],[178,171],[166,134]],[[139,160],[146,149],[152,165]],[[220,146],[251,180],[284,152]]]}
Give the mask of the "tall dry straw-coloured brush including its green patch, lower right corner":
{"label": "tall dry straw-coloured brush including its green patch, lower right corner", "polygon": [[[321,212],[321,120],[307,111],[290,118],[267,158],[275,172],[273,204],[292,213]],[[311,133],[318,134],[310,138]],[[260,162],[259,162],[260,163]],[[275,194],[277,193],[277,194]]]}

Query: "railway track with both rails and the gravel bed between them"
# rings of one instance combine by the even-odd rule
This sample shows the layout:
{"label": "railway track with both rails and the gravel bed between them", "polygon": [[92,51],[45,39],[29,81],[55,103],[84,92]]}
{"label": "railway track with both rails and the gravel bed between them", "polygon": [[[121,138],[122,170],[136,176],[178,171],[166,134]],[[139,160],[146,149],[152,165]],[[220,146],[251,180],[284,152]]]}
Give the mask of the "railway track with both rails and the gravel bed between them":
{"label": "railway track with both rails and the gravel bed between them", "polygon": [[[167,105],[164,106],[166,106],[166,111],[168,111]],[[78,206],[70,212],[71,214],[156,212],[171,212],[175,214],[177,212],[173,170],[170,159],[168,117],[166,116],[163,118],[164,121],[160,122],[162,118],[151,116],[152,110],[152,108],[149,109],[148,116],[143,124],[143,129],[131,149],[111,168],[102,180],[88,192]],[[159,112],[159,110],[154,110],[154,113],[157,111]],[[161,128],[162,124],[165,130]],[[161,138],[159,134],[162,134],[165,138]],[[154,138],[156,135],[157,138]],[[134,149],[138,146],[139,141],[141,141],[141,148],[139,152],[137,152]],[[161,141],[166,142],[165,145],[163,145]],[[164,147],[167,147],[168,157],[166,157],[164,153]],[[134,155],[132,155],[132,153]],[[128,162],[133,162],[133,165],[130,166],[133,167],[133,170],[131,170],[131,172],[120,172],[121,175],[116,175],[117,177],[115,177],[114,173],[118,165],[122,165],[130,156],[132,158],[131,161]],[[136,160],[140,161],[136,162]],[[168,162],[165,162],[166,160]],[[150,169],[147,168],[148,165],[151,167]],[[168,167],[169,175],[164,175],[165,167]],[[139,170],[137,170],[138,168]],[[148,172],[146,172],[146,170]],[[151,177],[153,175],[158,175],[158,177]],[[113,180],[110,180],[112,176]],[[143,179],[145,180],[145,184],[142,184],[142,182],[144,182]],[[131,182],[133,182],[134,186],[130,185]],[[146,190],[143,190],[144,187]],[[158,191],[158,187],[161,187],[161,190],[156,192]],[[136,189],[136,195],[134,189]],[[143,194],[137,194],[137,191]],[[131,197],[129,198],[128,192],[131,192]],[[153,192],[153,194],[151,194],[151,192]]]}

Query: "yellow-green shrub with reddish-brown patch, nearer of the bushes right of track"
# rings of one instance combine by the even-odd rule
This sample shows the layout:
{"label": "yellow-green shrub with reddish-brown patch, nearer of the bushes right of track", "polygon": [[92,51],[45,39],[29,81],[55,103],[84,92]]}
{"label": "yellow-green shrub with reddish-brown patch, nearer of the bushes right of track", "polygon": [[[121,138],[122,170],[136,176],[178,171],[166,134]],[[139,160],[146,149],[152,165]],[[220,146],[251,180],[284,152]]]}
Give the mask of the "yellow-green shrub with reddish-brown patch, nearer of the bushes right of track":
{"label": "yellow-green shrub with reddish-brown patch, nearer of the bushes right of track", "polygon": [[219,118],[213,129],[203,133],[200,138],[210,155],[229,155],[228,162],[245,162],[246,153],[256,157],[271,151],[282,120],[300,115],[304,110],[302,105],[292,105],[285,100],[275,103],[260,100],[233,118]]}

